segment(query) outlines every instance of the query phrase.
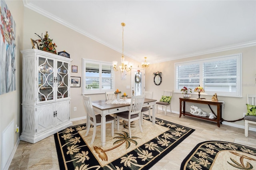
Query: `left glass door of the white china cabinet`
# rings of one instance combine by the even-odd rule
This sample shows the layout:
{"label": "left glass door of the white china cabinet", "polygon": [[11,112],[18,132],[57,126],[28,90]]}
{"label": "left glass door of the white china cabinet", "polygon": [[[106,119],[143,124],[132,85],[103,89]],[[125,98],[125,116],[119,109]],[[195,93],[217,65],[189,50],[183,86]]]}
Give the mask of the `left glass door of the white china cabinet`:
{"label": "left glass door of the white china cabinet", "polygon": [[54,60],[38,57],[38,100],[54,100]]}

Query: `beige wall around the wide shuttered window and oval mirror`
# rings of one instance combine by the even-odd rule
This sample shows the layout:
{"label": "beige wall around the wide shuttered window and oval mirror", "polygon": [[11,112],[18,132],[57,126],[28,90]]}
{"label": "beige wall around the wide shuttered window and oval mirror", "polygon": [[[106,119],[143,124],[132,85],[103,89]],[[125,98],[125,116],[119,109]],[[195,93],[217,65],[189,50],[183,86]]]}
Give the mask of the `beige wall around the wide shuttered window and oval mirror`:
{"label": "beige wall around the wide shuttered window and oval mirror", "polygon": [[[209,57],[218,57],[230,54],[242,53],[242,98],[236,97],[221,97],[218,96],[218,100],[225,101],[225,107],[222,110],[222,118],[227,121],[233,121],[242,118],[242,113],[246,112],[246,94],[256,94],[256,46],[245,47],[240,49],[234,49],[230,51],[223,51],[218,53],[212,53],[207,55],[200,55],[196,57],[189,57],[184,59],[178,59],[173,61],[166,61],[163,63],[151,64],[150,67],[146,69],[146,90],[154,91],[153,98],[160,99],[163,89],[174,90],[174,64],[182,61],[190,61],[196,59],[203,59]],[[159,86],[154,85],[153,72],[162,72],[162,83]],[[217,93],[218,95],[218,93]],[[206,99],[212,99],[212,95],[201,96]],[[179,97],[182,97],[182,93],[174,93],[172,97],[171,107],[172,111],[179,113]],[[194,93],[192,97],[198,97],[198,94]],[[210,113],[208,106],[198,105],[207,113]],[[187,107],[188,108],[188,107]],[[212,107],[213,109],[214,107]],[[227,123],[227,122],[224,122]],[[229,125],[232,123],[228,123]],[[244,126],[244,121],[237,121],[236,126]]]}

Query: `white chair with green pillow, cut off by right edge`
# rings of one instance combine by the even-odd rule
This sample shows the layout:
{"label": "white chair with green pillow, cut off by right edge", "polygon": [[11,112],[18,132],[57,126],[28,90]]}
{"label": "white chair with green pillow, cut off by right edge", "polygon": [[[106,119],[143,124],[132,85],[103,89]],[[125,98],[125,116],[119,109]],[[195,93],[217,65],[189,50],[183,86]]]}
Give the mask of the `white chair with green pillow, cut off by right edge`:
{"label": "white chair with green pillow, cut off by right edge", "polygon": [[[252,105],[252,107],[255,108],[256,106],[256,95],[247,95],[247,104]],[[248,111],[248,107],[247,107]],[[248,137],[248,129],[249,124],[256,125],[256,116],[245,116],[244,117],[244,136]]]}

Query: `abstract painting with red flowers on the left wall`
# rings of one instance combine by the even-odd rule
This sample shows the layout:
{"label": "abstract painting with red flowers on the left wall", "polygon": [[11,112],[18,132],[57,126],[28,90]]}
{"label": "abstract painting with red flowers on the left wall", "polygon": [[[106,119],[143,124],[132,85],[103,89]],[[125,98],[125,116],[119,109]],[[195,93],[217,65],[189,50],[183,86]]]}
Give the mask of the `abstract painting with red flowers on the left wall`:
{"label": "abstract painting with red flowers on the left wall", "polygon": [[16,23],[0,0],[0,95],[16,90]]}

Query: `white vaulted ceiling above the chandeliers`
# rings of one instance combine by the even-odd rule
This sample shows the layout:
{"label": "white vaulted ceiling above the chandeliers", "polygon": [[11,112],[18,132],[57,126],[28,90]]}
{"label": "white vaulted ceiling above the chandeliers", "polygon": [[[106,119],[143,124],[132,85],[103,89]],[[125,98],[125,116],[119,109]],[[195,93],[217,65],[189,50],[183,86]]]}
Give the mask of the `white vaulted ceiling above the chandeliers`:
{"label": "white vaulted ceiling above the chandeliers", "polygon": [[24,6],[137,60],[158,63],[256,45],[255,0],[23,0]]}

